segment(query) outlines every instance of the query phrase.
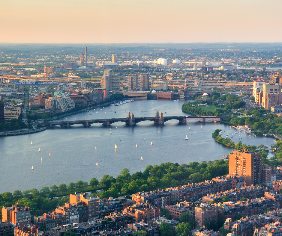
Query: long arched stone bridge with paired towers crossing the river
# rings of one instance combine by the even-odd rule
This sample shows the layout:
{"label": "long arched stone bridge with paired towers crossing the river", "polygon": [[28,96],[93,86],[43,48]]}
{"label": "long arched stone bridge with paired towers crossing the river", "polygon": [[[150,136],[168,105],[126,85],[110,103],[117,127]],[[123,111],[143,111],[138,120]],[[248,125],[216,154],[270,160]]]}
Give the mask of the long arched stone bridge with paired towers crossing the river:
{"label": "long arched stone bridge with paired towers crossing the river", "polygon": [[164,125],[164,122],[168,120],[178,120],[180,123],[185,124],[187,120],[197,120],[199,122],[205,123],[206,121],[209,120],[215,120],[218,122],[222,122],[223,117],[184,117],[184,116],[169,116],[169,117],[164,117],[163,113],[161,112],[159,115],[159,112],[156,112],[155,117],[134,117],[134,114],[128,111],[128,115],[125,118],[106,118],[106,119],[91,119],[91,120],[72,120],[72,121],[55,121],[55,122],[45,122],[42,123],[41,125],[44,127],[53,127],[56,125],[61,125],[61,126],[66,126],[70,127],[70,125],[84,125],[84,126],[90,126],[91,124],[95,123],[101,123],[103,125],[111,125],[115,122],[125,122],[127,125],[136,125],[139,122],[142,121],[153,121],[156,124],[159,125]]}

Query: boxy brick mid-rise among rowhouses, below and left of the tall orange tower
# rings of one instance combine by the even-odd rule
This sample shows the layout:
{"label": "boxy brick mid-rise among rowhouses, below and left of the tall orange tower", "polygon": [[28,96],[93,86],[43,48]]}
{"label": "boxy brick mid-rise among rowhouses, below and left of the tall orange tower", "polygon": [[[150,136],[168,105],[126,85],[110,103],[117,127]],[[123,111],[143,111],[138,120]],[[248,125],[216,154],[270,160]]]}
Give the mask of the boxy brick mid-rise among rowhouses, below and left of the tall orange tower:
{"label": "boxy brick mid-rise among rowhouses, below and left of the tall orange tower", "polygon": [[194,208],[196,227],[203,227],[206,220],[217,220],[217,206],[201,203]]}

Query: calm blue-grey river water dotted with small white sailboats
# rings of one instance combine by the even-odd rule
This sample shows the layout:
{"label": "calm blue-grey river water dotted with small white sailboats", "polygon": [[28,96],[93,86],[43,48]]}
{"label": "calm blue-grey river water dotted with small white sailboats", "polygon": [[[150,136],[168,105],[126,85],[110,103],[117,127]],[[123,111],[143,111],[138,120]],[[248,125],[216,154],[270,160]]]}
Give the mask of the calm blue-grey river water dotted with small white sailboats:
{"label": "calm blue-grey river water dotted with small white sailboats", "polygon": [[[156,110],[167,112],[164,116],[182,116],[186,115],[181,111],[183,102],[135,101],[121,106],[105,107],[101,113],[98,112],[101,108],[96,108],[90,112],[69,116],[67,120],[84,117],[127,117],[128,111],[133,112],[135,117],[149,117],[155,116]],[[109,111],[114,109],[116,113]],[[230,130],[229,126],[214,121],[206,122],[202,125],[203,128],[201,125],[196,121],[179,125],[178,121],[171,120],[160,127],[149,121],[128,127],[122,122],[117,122],[111,126],[112,134],[110,127],[93,124],[88,128],[81,125],[71,128],[56,126],[52,130],[36,134],[0,137],[0,193],[41,189],[43,186],[68,184],[79,179],[89,181],[93,177],[101,179],[105,174],[116,177],[123,168],[129,168],[131,173],[135,173],[144,171],[149,164],[162,162],[183,164],[192,161],[213,161],[232,151],[232,148],[215,142],[211,134],[215,129],[223,129],[223,134],[229,134],[231,137],[236,131],[234,128]],[[186,134],[188,140],[184,140]],[[238,134],[233,135],[233,141],[237,143]],[[250,139],[248,134],[243,134],[241,139],[242,143],[256,146],[274,144],[273,140],[264,136]],[[114,148],[115,144],[117,150]],[[39,148],[41,152],[38,152]],[[140,161],[141,156],[143,161]]]}

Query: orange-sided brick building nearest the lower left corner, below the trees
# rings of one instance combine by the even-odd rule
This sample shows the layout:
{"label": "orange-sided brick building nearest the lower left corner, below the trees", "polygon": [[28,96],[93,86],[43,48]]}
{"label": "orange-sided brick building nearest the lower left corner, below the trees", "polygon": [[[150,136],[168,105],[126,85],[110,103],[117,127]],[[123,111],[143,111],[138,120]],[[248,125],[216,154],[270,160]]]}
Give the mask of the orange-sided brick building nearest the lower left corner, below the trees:
{"label": "orange-sided brick building nearest the lower left corner, below the trees", "polygon": [[2,222],[11,222],[14,227],[25,227],[31,223],[29,207],[2,207]]}

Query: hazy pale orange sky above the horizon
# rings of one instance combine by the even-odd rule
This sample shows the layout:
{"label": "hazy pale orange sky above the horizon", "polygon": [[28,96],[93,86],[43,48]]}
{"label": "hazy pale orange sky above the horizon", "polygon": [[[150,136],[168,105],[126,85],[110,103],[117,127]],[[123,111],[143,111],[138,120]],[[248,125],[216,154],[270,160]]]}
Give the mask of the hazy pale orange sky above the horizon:
{"label": "hazy pale orange sky above the horizon", "polygon": [[0,42],[282,42],[282,0],[1,0]]}

